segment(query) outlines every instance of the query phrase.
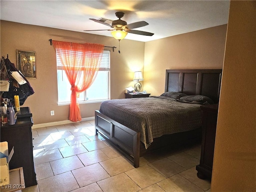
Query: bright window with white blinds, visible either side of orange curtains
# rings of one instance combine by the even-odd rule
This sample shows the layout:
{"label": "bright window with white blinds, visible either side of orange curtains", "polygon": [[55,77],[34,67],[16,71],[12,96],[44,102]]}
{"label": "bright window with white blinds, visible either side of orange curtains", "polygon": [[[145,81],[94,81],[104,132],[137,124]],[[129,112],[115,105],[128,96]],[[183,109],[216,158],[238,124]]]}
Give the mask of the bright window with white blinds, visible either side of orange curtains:
{"label": "bright window with white blinds, visible either side of orange curtains", "polygon": [[[56,55],[57,56],[57,55]],[[57,56],[57,82],[58,82],[58,104],[70,104],[71,85],[65,71],[62,70],[61,60]],[[93,84],[84,92],[78,94],[79,103],[97,102],[108,100],[110,82],[110,51],[104,50],[100,69]]]}

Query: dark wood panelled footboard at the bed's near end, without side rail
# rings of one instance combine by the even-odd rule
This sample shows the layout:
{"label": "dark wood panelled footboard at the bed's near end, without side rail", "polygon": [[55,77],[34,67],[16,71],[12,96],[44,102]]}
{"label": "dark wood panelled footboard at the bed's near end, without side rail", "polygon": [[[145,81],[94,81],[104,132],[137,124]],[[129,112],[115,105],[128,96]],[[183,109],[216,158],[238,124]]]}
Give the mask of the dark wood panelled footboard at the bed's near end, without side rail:
{"label": "dark wood panelled footboard at the bed's near end, without side rail", "polygon": [[140,132],[95,111],[95,134],[113,144],[135,168],[140,166]]}

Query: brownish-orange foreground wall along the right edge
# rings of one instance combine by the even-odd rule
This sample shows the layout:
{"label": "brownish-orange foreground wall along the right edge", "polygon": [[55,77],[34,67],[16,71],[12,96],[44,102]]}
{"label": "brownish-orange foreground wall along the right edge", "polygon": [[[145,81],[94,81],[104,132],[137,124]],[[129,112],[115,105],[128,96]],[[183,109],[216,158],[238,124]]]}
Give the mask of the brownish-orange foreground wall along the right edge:
{"label": "brownish-orange foreground wall along the right edge", "polygon": [[212,192],[256,191],[256,1],[231,1]]}

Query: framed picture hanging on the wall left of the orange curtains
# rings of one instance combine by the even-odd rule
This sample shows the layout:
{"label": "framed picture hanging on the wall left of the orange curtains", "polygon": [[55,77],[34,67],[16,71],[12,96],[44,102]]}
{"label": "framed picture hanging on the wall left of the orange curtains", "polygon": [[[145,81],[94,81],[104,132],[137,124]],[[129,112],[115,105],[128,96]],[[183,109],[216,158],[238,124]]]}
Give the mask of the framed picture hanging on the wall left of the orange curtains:
{"label": "framed picture hanging on the wall left of the orange curtains", "polygon": [[16,50],[17,69],[26,78],[36,78],[36,52]]}

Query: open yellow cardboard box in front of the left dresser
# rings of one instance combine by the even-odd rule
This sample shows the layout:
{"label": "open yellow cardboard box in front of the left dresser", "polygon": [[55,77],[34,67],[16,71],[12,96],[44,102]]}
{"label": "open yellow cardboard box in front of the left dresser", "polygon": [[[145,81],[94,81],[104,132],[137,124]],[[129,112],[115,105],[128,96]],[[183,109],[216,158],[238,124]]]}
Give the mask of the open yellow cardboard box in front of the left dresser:
{"label": "open yellow cardboard box in front of the left dresser", "polygon": [[10,183],[9,176],[9,162],[14,153],[14,147],[8,155],[8,142],[0,142],[0,185],[7,185]]}

